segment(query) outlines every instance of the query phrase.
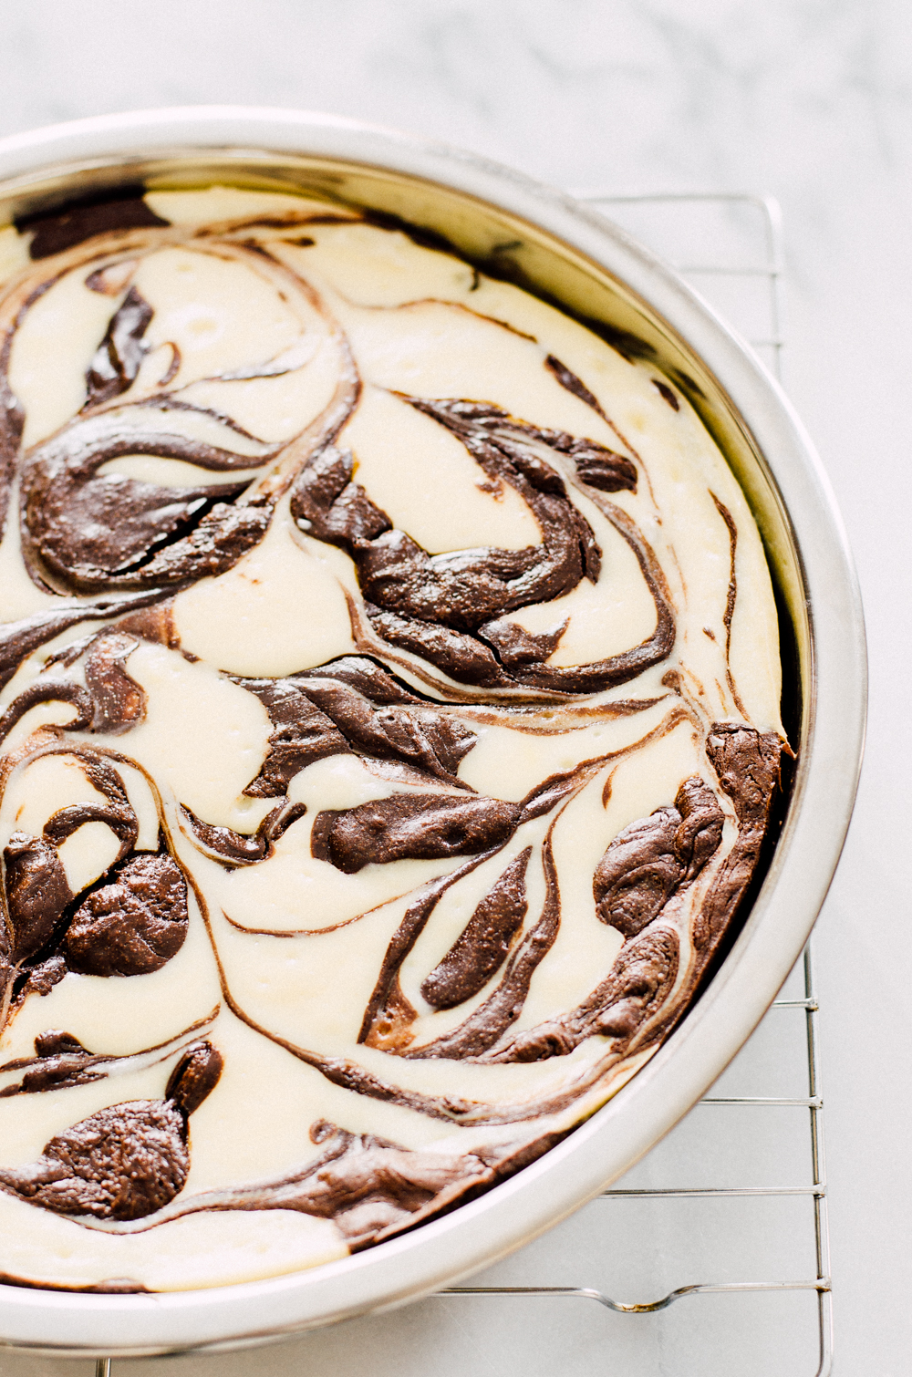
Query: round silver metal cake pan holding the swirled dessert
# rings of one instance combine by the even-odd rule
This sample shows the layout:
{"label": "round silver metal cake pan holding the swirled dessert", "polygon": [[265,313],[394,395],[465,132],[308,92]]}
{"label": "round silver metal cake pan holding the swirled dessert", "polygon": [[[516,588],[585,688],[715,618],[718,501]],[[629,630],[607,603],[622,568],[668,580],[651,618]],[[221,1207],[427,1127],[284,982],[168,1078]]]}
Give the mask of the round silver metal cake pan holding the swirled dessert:
{"label": "round silver metal cake pan holding the swirled dessert", "polygon": [[864,741],[864,622],[827,476],[783,391],[674,271],[559,191],[335,116],[149,110],[0,140],[0,223],[124,185],[212,182],[300,189],[401,216],[579,318],[643,341],[716,437],[760,527],[795,644],[785,693],[798,760],[769,869],[707,991],[562,1144],[453,1213],[311,1271],[131,1296],[0,1286],[0,1344],[58,1356],[240,1347],[398,1305],[489,1265],[591,1199],[686,1114],[776,997],[836,868]]}

